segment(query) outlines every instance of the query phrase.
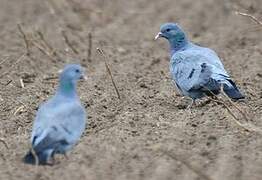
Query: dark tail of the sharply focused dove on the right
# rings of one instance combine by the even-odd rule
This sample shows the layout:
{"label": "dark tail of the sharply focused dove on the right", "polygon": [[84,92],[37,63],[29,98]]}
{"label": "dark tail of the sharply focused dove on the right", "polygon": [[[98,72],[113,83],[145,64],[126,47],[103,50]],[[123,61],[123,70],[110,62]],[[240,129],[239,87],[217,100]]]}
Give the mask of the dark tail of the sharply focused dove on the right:
{"label": "dark tail of the sharply focused dove on the right", "polygon": [[228,83],[224,84],[223,91],[226,93],[228,97],[233,100],[244,99],[245,96],[241,94],[236,84],[231,80],[227,79]]}

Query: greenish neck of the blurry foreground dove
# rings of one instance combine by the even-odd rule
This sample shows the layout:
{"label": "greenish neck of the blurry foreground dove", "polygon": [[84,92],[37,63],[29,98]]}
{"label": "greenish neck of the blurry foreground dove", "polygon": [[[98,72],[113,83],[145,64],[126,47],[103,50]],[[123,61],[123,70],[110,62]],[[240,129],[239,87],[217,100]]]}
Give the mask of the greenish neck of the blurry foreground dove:
{"label": "greenish neck of the blurry foreground dove", "polygon": [[66,98],[78,98],[76,91],[76,82],[72,81],[60,81],[57,95]]}

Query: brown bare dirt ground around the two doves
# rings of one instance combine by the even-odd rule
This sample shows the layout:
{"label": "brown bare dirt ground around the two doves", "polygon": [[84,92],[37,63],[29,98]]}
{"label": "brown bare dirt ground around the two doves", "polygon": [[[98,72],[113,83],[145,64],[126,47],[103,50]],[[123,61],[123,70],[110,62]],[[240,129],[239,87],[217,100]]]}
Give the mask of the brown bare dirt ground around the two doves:
{"label": "brown bare dirt ground around the two doves", "polygon": [[[0,179],[261,180],[262,26],[235,10],[261,19],[262,1],[1,0]],[[170,81],[168,44],[153,40],[164,22],[178,22],[223,59],[247,96],[235,103],[247,118],[229,106],[241,126],[222,104],[185,109],[190,100],[175,95]],[[69,159],[23,164],[36,110],[70,62],[87,69],[78,88],[86,132]]]}

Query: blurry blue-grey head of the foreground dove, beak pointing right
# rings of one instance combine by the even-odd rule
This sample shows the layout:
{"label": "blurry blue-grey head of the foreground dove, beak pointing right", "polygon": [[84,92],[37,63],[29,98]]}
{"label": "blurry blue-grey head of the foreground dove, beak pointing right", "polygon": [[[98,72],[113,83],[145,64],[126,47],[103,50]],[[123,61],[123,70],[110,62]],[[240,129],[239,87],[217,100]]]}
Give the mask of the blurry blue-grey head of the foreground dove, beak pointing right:
{"label": "blurry blue-grey head of the foreground dove, beak pointing right", "polygon": [[60,74],[60,81],[76,83],[79,79],[85,79],[84,68],[79,64],[68,64]]}

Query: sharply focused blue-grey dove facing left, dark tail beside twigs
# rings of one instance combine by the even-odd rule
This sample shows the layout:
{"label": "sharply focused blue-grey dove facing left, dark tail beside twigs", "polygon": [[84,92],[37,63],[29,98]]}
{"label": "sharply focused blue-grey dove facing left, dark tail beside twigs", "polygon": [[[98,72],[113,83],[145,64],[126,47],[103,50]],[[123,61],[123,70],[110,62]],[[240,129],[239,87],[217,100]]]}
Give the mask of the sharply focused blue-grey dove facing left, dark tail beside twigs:
{"label": "sharply focused blue-grey dove facing left, dark tail beside twigs", "polygon": [[191,105],[205,95],[219,94],[221,88],[233,100],[244,98],[217,54],[190,42],[179,25],[163,24],[155,39],[159,37],[169,41],[172,79],[184,96],[192,98]]}

